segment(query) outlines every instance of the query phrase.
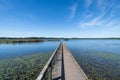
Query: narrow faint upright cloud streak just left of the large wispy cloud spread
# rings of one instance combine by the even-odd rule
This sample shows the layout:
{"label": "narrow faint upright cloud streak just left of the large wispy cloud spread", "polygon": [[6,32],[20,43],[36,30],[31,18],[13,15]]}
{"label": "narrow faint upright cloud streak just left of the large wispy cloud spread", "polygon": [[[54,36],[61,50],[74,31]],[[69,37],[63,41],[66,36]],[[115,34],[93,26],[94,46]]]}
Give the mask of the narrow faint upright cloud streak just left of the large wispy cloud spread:
{"label": "narrow faint upright cloud streak just left of the large wispy cloud spread", "polygon": [[78,5],[79,5],[79,0],[77,0],[72,6],[70,6],[70,11],[71,11],[69,16],[70,19],[73,19],[75,17],[75,13],[77,11]]}

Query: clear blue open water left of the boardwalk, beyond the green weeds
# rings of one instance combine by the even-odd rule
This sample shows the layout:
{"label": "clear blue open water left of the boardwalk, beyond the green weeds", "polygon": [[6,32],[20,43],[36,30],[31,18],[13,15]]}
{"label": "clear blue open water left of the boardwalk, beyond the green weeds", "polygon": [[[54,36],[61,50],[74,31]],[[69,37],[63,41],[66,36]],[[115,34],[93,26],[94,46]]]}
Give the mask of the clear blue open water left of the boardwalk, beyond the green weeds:
{"label": "clear blue open water left of the boardwalk, beyond the green weeds", "polygon": [[59,42],[0,44],[0,59],[33,53],[53,52]]}

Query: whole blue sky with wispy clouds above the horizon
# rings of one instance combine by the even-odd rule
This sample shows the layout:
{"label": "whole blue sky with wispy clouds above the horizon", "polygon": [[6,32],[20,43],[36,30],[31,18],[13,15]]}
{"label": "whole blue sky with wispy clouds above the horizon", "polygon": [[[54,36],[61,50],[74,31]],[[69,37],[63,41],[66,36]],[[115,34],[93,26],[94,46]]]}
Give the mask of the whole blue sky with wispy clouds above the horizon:
{"label": "whole blue sky with wispy clouds above the horizon", "polygon": [[120,37],[120,0],[0,0],[0,37]]}

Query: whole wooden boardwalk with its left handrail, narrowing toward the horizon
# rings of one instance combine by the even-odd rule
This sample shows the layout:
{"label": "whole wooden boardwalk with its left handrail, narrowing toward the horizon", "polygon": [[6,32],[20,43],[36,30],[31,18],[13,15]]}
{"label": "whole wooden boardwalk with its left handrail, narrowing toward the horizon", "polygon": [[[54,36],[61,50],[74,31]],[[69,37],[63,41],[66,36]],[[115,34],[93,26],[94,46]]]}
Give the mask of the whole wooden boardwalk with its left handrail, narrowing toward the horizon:
{"label": "whole wooden boardwalk with its left handrail, narrowing toward the horizon", "polygon": [[67,47],[60,43],[36,80],[88,80]]}

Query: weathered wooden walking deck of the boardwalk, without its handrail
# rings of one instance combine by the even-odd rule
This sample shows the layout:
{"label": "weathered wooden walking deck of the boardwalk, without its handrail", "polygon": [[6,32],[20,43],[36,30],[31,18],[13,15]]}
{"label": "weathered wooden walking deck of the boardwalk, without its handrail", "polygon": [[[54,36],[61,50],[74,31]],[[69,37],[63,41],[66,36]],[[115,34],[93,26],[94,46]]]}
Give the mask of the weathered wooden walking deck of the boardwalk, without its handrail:
{"label": "weathered wooden walking deck of the boardwalk, without its handrail", "polygon": [[53,80],[88,80],[71,52],[62,43],[57,52],[57,60],[52,70]]}

